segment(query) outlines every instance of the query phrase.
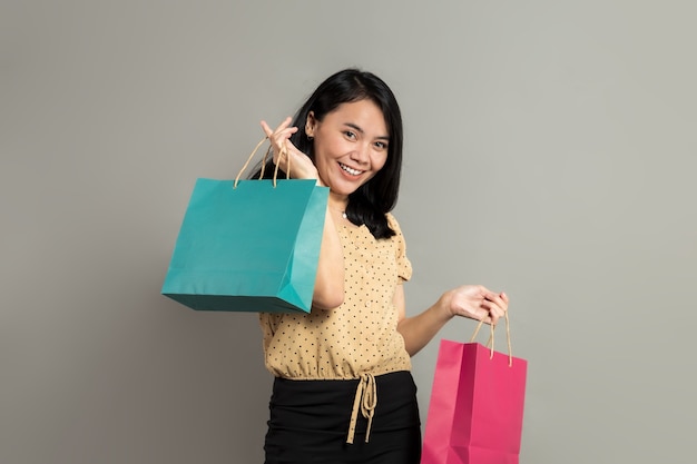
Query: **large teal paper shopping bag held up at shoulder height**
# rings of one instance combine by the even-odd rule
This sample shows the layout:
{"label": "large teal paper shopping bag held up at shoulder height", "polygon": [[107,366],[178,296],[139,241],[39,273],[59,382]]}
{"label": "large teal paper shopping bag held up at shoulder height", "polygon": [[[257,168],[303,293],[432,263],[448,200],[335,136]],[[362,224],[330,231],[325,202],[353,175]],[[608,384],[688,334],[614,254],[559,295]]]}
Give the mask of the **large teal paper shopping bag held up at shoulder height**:
{"label": "large teal paper shopping bag held up at shoulder height", "polygon": [[198,179],[161,294],[199,310],[310,313],[328,188]]}

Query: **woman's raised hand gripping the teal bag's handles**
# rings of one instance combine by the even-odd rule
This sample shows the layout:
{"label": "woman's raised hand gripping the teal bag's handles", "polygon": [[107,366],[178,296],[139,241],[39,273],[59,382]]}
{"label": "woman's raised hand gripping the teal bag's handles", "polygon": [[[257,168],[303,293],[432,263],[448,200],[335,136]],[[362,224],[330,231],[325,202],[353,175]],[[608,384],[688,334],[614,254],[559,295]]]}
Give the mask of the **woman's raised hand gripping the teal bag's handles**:
{"label": "woman's raised hand gripping the teal bag's handles", "polygon": [[317,179],[318,184],[323,185],[312,159],[291,142],[291,136],[297,132],[297,127],[291,126],[291,122],[289,117],[285,118],[275,130],[272,130],[266,121],[262,121],[262,129],[264,129],[273,147],[274,162],[279,164],[281,168],[285,170],[289,157],[291,178]]}

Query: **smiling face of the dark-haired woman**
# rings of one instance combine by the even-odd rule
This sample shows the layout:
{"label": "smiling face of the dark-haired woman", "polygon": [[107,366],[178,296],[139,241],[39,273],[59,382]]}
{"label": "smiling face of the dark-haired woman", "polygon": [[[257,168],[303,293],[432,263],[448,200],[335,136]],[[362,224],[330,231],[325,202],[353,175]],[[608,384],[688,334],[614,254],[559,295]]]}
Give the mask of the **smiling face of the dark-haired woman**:
{"label": "smiling face of the dark-haired woman", "polygon": [[320,179],[337,199],[345,200],[387,159],[390,136],[385,118],[371,100],[342,103],[322,121],[311,111],[305,132],[314,137]]}

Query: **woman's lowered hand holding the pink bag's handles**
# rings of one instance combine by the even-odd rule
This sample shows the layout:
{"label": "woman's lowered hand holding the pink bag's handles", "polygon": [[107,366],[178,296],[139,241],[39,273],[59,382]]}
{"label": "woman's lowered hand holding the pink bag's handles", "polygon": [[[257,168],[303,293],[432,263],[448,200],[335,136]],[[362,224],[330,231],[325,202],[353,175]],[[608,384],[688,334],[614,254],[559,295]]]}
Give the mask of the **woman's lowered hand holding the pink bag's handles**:
{"label": "woman's lowered hand holding the pink bag's handles", "polygon": [[495,325],[508,310],[508,295],[491,292],[481,285],[463,285],[448,292],[445,304],[450,314]]}

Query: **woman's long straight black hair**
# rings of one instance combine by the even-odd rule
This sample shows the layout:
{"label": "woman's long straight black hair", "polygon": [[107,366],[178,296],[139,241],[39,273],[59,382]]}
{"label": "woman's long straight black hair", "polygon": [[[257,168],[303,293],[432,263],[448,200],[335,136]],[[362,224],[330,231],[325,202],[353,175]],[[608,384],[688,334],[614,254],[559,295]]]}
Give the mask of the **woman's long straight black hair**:
{"label": "woman's long straight black hair", "polygon": [[[402,113],[394,93],[377,76],[355,68],[330,76],[305,101],[293,119],[297,132],[291,142],[314,161],[314,145],[305,132],[307,115],[313,111],[317,121],[342,103],[360,100],[374,102],[385,118],[390,144],[387,159],[372,179],[348,196],[346,216],[355,225],[365,224],[375,238],[389,238],[395,233],[387,225],[385,214],[396,205],[402,170]],[[267,161],[264,177],[273,176],[273,160]],[[258,177],[259,170],[251,177]]]}

